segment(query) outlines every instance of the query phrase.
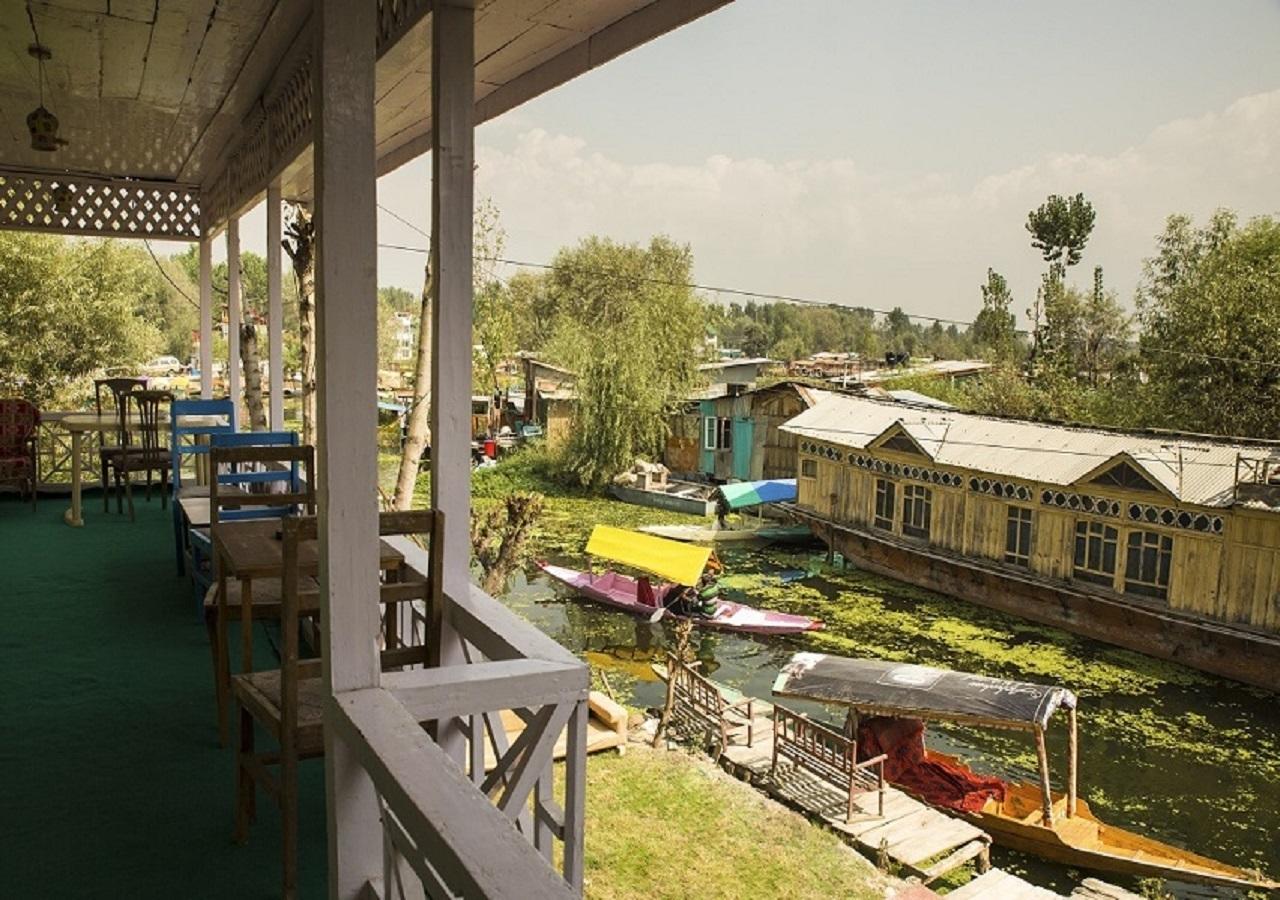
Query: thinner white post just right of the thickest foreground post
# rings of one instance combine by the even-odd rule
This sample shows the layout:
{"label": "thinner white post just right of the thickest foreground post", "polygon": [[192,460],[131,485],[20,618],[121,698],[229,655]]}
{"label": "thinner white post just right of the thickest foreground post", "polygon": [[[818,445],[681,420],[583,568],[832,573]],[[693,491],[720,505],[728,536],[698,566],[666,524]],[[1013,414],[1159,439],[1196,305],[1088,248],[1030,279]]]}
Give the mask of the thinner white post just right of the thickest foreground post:
{"label": "thinner white post just right of the thickest foreground post", "polygon": [[[445,603],[471,589],[471,221],[475,189],[475,9],[431,10],[431,506],[444,512]],[[463,664],[444,617],[440,664]],[[442,722],[440,748],[462,763],[462,731]]]}

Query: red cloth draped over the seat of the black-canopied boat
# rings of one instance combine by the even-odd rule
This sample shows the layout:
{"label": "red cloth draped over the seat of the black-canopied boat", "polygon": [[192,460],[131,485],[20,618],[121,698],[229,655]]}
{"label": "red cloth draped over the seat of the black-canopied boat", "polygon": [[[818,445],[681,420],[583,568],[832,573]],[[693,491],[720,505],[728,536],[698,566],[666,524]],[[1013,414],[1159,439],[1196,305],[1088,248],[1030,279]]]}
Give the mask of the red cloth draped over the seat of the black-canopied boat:
{"label": "red cloth draped over the seat of the black-canopied boat", "polygon": [[873,716],[858,723],[858,758],[886,754],[884,780],[925,801],[977,812],[988,799],[1005,799],[1005,782],[929,755],[924,722]]}

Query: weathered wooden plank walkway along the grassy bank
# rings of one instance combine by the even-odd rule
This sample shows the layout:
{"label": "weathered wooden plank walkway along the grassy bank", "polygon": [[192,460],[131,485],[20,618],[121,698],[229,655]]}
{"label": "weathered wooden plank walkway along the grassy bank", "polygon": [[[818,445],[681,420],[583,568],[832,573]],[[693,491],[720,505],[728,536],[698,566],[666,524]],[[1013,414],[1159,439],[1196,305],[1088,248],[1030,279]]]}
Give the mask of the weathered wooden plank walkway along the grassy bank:
{"label": "weathered wooden plank walkway along the grassy bank", "polygon": [[[762,704],[764,705],[764,704]],[[849,842],[872,858],[881,854],[918,876],[925,883],[956,869],[970,859],[984,864],[991,837],[982,828],[947,816],[896,787],[884,789],[884,814],[874,791],[854,800],[854,816],[845,821],[849,795],[828,781],[786,763],[772,773],[773,722],[755,719],[753,746],[731,744],[723,762],[733,775],[763,789],[783,803],[820,818]]]}

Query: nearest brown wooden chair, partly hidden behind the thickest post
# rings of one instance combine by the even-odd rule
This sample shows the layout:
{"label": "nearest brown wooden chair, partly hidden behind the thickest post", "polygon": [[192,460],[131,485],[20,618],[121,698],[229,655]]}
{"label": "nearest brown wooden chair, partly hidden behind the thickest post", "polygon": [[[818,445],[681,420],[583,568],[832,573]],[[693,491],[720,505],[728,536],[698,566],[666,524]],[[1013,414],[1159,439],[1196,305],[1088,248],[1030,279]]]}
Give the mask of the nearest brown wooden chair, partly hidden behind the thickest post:
{"label": "nearest brown wooden chair, partly hidden behind the thickest post", "polygon": [[[404,602],[421,602],[428,616],[440,609],[440,565],[443,559],[442,526],[444,516],[433,510],[384,512],[379,517],[379,534],[429,535],[430,572],[407,570],[394,583],[379,588],[379,603],[394,607]],[[293,517],[283,522],[284,603],[280,615],[280,668],[268,672],[237,675],[232,691],[239,709],[239,745],[236,766],[236,832],[237,842],[248,839],[256,817],[256,787],[265,789],[280,807],[283,827],[282,868],[284,896],[293,897],[297,888],[298,841],[298,760],[324,755],[325,685],[320,677],[320,658],[301,659],[300,630],[303,617],[319,617],[320,593],[310,588],[298,567],[298,545],[315,540],[316,520]],[[319,652],[319,647],[316,648]],[[429,664],[429,648],[401,647],[383,650],[384,671],[410,664]],[[279,750],[260,751],[255,748],[255,723],[279,745]],[[273,777],[270,766],[278,766]]]}

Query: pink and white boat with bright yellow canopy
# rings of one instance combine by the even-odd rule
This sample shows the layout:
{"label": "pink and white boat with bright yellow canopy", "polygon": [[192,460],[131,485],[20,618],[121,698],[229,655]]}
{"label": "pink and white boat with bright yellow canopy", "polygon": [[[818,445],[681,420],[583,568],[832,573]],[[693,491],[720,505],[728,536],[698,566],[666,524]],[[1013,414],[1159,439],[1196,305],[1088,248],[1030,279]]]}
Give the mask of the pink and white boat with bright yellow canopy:
{"label": "pink and white boat with bright yellow canopy", "polygon": [[710,558],[710,549],[664,540],[648,534],[637,534],[607,525],[598,525],[588,542],[586,552],[594,557],[620,562],[664,581],[650,584],[648,579],[631,577],[607,571],[600,575],[582,572],[566,566],[539,562],[538,567],[576,593],[616,609],[636,616],[654,616],[664,609],[667,616],[691,620],[699,626],[722,631],[750,634],[799,634],[815,631],[822,622],[808,616],[756,609],[755,607],[719,600],[712,615],[687,615],[671,603],[684,588],[698,584]]}

